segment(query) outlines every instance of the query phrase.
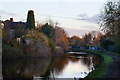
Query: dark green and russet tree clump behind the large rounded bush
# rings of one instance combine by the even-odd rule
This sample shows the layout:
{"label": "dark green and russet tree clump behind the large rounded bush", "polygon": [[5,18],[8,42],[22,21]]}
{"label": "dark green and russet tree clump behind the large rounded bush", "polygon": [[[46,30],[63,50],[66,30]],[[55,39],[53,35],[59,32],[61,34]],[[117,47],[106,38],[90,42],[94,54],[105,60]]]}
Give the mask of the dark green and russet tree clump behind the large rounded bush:
{"label": "dark green and russet tree clump behind the large rounded bush", "polygon": [[37,24],[37,31],[46,35],[49,38],[50,43],[51,41],[54,43],[53,46],[59,46],[60,48],[63,48],[63,50],[67,50],[69,48],[69,41],[66,32],[61,27],[55,27],[51,20],[49,23],[50,24],[46,23],[41,26],[40,24]]}

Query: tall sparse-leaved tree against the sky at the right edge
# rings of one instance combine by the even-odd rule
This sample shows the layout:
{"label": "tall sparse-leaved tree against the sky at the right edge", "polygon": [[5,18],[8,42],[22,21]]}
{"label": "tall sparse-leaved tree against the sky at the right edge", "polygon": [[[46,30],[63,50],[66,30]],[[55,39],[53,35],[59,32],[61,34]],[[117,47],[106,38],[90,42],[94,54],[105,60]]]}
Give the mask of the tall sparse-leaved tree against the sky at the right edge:
{"label": "tall sparse-leaved tree against the sky at the right edge", "polygon": [[120,1],[109,1],[101,14],[101,29],[115,43],[115,49],[120,52]]}

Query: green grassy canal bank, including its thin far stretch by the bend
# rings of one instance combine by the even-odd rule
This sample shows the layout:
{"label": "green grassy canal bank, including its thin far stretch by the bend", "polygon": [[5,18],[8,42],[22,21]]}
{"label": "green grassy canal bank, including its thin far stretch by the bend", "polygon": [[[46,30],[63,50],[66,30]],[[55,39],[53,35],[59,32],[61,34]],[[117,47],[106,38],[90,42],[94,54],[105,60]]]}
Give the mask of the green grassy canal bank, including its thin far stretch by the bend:
{"label": "green grassy canal bank, including its thin far stretch by the bend", "polygon": [[102,51],[96,51],[96,50],[89,50],[89,49],[72,49],[73,51],[82,51],[86,52],[88,54],[98,54],[103,58],[103,61],[95,66],[95,70],[92,71],[90,74],[88,74],[87,77],[83,78],[83,80],[98,80],[103,79],[103,77],[108,72],[108,66],[113,61],[113,58],[109,55],[103,54]]}

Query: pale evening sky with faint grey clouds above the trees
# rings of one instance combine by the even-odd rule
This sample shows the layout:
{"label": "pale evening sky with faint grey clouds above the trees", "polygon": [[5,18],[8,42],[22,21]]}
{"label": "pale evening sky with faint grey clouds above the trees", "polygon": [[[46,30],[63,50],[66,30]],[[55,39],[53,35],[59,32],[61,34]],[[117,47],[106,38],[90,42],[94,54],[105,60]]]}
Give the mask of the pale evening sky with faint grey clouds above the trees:
{"label": "pale evening sky with faint grey clouds above the trees", "polygon": [[2,0],[2,20],[23,21],[28,10],[33,10],[35,21],[43,24],[49,19],[65,29],[68,36],[82,37],[93,30],[100,31],[98,20],[106,0]]}

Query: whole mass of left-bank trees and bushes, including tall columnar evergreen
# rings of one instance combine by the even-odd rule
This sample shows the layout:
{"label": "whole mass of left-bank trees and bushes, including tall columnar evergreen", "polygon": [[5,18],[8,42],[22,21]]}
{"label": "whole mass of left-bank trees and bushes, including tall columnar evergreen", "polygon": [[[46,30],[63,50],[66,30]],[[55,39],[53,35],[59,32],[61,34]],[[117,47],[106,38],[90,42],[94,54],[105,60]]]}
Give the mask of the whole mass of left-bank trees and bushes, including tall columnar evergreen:
{"label": "whole mass of left-bank trees and bushes, including tall columnar evergreen", "polygon": [[[2,41],[3,48],[7,46],[11,49],[11,52],[16,52],[15,54],[9,53],[8,49],[4,49],[3,57],[4,59],[9,59],[7,55],[16,57],[16,55],[24,57],[51,57],[56,51],[64,53],[64,50],[69,48],[69,41],[64,29],[60,27],[53,27],[54,24],[43,24],[37,25],[35,29],[35,19],[34,11],[29,10],[27,16],[26,26],[22,24],[16,25],[13,30],[9,28],[3,28],[2,30]],[[26,28],[25,28],[26,27]],[[60,49],[56,49],[59,46]],[[15,51],[15,49],[17,51]],[[14,56],[13,56],[14,55]]]}

